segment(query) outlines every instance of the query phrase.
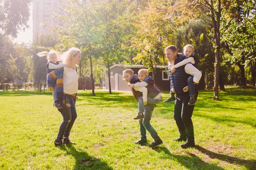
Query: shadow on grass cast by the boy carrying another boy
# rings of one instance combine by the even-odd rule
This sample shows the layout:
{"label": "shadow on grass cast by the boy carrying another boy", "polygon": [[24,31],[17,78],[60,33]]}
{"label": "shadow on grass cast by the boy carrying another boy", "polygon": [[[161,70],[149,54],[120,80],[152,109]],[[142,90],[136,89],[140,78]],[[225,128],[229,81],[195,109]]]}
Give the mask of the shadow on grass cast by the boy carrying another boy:
{"label": "shadow on grass cast by the boy carrying another boy", "polygon": [[188,169],[197,169],[197,170],[224,170],[222,167],[218,167],[214,164],[209,164],[203,160],[201,160],[198,156],[190,153],[189,156],[181,156],[172,154],[166,147],[155,147],[153,150],[161,153],[162,151],[166,154],[166,159],[173,159],[179,162],[181,165]]}

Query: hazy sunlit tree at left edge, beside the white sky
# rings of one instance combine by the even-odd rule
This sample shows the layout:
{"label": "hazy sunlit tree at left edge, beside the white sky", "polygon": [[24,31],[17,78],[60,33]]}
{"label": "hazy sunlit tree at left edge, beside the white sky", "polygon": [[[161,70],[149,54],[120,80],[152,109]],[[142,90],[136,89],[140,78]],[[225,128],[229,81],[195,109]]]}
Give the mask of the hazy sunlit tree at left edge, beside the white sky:
{"label": "hazy sunlit tree at left edge, beside the white sky", "polygon": [[29,3],[31,0],[1,0],[0,1],[0,83],[14,80],[16,69],[13,37],[18,31],[28,28]]}

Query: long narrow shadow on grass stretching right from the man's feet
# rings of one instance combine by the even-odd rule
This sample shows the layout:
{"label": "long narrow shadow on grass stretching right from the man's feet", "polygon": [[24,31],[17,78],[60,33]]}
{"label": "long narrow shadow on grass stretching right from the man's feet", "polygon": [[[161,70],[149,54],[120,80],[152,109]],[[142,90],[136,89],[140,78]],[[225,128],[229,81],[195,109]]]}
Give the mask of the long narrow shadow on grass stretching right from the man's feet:
{"label": "long narrow shadow on grass stretching right from the man's feet", "polygon": [[240,159],[240,158],[236,158],[236,157],[233,157],[233,156],[227,156],[227,155],[224,155],[224,154],[214,153],[214,152],[212,152],[210,150],[207,150],[207,149],[205,149],[201,146],[198,146],[198,145],[196,145],[195,148],[197,150],[199,150],[200,152],[208,155],[212,159],[219,159],[221,161],[226,161],[230,164],[244,165],[249,170],[256,170],[256,160],[245,160],[245,159]]}

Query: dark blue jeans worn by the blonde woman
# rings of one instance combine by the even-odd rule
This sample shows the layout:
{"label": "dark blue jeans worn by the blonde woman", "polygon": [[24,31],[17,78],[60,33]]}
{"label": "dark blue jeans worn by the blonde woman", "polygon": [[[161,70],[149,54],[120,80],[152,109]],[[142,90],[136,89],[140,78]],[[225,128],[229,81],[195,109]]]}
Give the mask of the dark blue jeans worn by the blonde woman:
{"label": "dark blue jeans worn by the blonde woman", "polygon": [[[65,107],[62,109],[58,109],[61,112],[61,115],[63,117],[63,121],[61,122],[58,136],[57,138],[63,139],[64,137],[68,137],[70,135],[70,130],[73,127],[73,124],[76,120],[77,114],[76,114],[76,106],[72,99],[71,95],[64,94],[65,99]],[[71,107],[68,107],[66,104],[70,104]]]}

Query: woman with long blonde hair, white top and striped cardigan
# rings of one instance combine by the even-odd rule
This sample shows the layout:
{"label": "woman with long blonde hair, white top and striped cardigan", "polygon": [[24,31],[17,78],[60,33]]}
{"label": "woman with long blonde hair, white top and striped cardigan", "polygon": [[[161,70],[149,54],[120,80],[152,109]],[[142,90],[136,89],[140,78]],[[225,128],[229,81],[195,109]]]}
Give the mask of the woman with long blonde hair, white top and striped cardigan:
{"label": "woman with long blonde hair, white top and striped cardigan", "polygon": [[58,109],[63,121],[54,141],[55,146],[76,144],[71,142],[69,135],[77,117],[75,102],[78,91],[78,74],[76,65],[81,61],[81,51],[79,48],[70,48],[61,55],[61,59],[67,66],[56,69],[47,76],[47,88],[52,87],[52,82],[57,82],[58,100],[63,102],[61,103],[63,108]]}

